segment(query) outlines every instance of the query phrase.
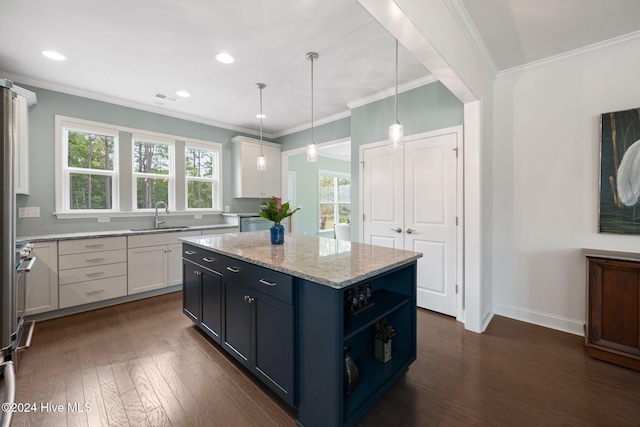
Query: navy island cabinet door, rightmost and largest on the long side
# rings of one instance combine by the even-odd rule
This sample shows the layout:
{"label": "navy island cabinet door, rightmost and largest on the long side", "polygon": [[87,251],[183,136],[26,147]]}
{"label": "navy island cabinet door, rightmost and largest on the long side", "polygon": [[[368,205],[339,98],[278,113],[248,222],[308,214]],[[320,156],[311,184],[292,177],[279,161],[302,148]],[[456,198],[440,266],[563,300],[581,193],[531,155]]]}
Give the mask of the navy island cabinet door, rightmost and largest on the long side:
{"label": "navy island cabinet door, rightmost and largest on the long side", "polygon": [[252,370],[294,406],[293,306],[253,291],[255,349]]}

